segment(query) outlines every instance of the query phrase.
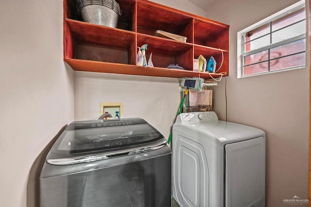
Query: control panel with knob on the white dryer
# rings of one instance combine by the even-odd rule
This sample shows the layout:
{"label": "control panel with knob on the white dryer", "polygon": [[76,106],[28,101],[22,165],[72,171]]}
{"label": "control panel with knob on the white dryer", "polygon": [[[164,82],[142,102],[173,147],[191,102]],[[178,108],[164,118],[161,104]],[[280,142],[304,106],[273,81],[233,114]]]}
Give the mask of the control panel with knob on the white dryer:
{"label": "control panel with knob on the white dryer", "polygon": [[187,123],[218,121],[218,117],[214,111],[182,113],[180,117],[183,122]]}

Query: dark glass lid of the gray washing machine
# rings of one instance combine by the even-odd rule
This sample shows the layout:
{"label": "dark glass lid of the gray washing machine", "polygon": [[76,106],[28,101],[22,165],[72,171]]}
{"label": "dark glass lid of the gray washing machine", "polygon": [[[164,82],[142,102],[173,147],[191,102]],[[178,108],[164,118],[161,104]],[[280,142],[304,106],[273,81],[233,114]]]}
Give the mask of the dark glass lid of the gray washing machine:
{"label": "dark glass lid of the gray washing machine", "polygon": [[[52,146],[50,154],[92,154],[156,143],[163,135],[141,118],[72,122]],[[50,157],[51,159],[51,155]]]}

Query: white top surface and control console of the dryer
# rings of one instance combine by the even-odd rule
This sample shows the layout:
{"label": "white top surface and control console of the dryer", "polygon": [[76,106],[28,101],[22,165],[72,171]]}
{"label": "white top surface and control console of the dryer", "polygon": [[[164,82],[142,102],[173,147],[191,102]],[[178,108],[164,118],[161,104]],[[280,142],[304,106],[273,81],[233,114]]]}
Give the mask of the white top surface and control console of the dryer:
{"label": "white top surface and control console of the dryer", "polygon": [[261,129],[219,121],[214,111],[182,113],[177,117],[173,130],[217,147],[224,147],[227,143],[265,137]]}

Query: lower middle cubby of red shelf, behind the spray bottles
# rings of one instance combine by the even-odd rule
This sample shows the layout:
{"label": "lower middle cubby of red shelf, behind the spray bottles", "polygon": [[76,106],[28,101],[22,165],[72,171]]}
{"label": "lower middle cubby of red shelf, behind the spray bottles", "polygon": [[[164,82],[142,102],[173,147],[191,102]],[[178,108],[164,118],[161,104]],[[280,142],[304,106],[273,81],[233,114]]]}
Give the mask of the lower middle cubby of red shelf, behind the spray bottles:
{"label": "lower middle cubby of red shelf, behind the spray bottles", "polygon": [[192,44],[146,34],[137,34],[137,44],[139,46],[148,44],[147,61],[152,52],[152,61],[155,67],[165,68],[170,64],[178,64],[186,70],[192,70],[192,64],[186,61],[193,56]]}

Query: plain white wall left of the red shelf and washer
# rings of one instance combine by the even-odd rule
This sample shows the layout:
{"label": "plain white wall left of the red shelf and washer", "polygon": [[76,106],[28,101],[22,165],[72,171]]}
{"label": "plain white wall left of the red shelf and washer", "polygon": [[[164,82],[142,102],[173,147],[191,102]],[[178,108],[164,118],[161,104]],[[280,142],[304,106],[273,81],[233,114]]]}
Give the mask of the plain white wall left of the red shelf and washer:
{"label": "plain white wall left of the red shelf and washer", "polygon": [[74,118],[63,62],[63,1],[1,1],[0,206],[25,207],[30,169]]}

